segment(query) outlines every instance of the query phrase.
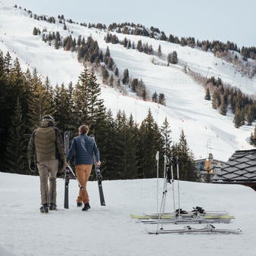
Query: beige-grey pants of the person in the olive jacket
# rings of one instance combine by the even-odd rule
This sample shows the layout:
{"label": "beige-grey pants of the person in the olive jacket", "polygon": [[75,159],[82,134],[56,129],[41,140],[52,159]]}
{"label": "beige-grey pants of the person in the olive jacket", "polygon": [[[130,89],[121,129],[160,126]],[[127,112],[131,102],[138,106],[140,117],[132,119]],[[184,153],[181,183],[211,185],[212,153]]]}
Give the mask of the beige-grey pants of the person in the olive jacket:
{"label": "beige-grey pants of the person in the olive jacket", "polygon": [[[40,176],[41,203],[56,204],[56,176],[58,173],[58,159],[40,161],[37,163]],[[49,184],[48,184],[49,182]]]}

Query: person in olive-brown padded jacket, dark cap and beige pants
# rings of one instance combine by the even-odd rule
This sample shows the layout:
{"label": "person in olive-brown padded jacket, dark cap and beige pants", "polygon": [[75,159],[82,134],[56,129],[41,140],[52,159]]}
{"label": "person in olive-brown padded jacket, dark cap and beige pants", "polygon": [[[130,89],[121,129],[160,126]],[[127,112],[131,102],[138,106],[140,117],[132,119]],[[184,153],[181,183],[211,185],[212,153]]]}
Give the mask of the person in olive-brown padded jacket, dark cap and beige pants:
{"label": "person in olive-brown padded jacket, dark cap and beige pants", "polygon": [[66,158],[61,132],[55,127],[55,120],[50,115],[45,115],[41,126],[33,130],[27,156],[30,170],[35,172],[37,167],[39,171],[40,211],[48,213],[48,209],[56,210],[56,176],[58,169],[64,171]]}

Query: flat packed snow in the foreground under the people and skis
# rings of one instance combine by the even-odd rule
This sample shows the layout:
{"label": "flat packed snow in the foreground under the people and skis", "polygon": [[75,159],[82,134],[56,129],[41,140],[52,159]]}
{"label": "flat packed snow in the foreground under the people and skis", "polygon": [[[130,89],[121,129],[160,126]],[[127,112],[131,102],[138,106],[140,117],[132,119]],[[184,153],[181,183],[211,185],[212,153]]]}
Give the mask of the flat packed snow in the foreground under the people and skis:
{"label": "flat packed snow in the foreground under the people and skis", "polygon": [[[104,176],[104,173],[103,173]],[[0,255],[208,255],[254,256],[256,193],[241,185],[180,181],[180,207],[226,210],[236,219],[218,228],[241,228],[239,235],[148,235],[155,225],[137,223],[131,213],[156,211],[157,179],[103,181],[106,206],[100,206],[98,185],[90,181],[91,209],[76,208],[78,186],[70,180],[70,208],[64,209],[64,180],[58,179],[58,211],[41,214],[39,176],[0,173]],[[159,201],[163,180],[159,179]],[[177,181],[174,181],[177,194]],[[167,186],[166,210],[173,209]],[[177,205],[177,203],[176,203]],[[182,228],[185,225],[164,225]],[[204,226],[191,225],[191,226]]]}

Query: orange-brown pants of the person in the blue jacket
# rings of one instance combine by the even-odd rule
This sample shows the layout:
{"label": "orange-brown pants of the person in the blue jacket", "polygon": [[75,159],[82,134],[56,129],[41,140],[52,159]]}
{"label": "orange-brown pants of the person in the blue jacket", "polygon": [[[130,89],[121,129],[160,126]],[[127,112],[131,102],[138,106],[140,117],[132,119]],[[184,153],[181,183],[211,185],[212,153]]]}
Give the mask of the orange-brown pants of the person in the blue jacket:
{"label": "orange-brown pants of the person in the blue jacket", "polygon": [[83,186],[83,189],[80,189],[79,195],[76,199],[77,202],[88,203],[89,195],[86,189],[87,181],[92,171],[92,164],[77,164],[76,165],[76,176],[80,185]]}

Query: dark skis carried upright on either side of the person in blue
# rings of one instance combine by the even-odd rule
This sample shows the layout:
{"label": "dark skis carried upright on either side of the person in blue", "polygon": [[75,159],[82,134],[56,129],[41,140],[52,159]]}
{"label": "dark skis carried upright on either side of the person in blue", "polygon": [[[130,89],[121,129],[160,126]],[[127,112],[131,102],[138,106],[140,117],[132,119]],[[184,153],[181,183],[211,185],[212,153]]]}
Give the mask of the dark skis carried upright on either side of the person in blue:
{"label": "dark skis carried upright on either side of the person in blue", "polygon": [[[91,135],[91,137],[95,140],[94,136]],[[65,154],[67,155],[68,150],[69,150],[69,143],[70,143],[70,132],[66,131],[64,132],[64,150]],[[95,173],[96,173],[96,179],[98,182],[98,192],[99,192],[99,198],[102,206],[105,206],[105,198],[103,194],[103,189],[102,189],[102,176],[101,176],[101,169],[96,165],[95,161],[95,156],[93,157],[94,160],[94,165],[95,165]],[[65,188],[64,188],[64,208],[68,209],[69,208],[69,200],[68,200],[68,186],[70,183],[70,173],[73,174],[73,176],[76,178],[76,174],[73,172],[72,168],[70,167],[69,164],[66,165],[65,169]],[[77,180],[77,178],[76,178]],[[77,180],[78,182],[78,180]],[[79,182],[78,182],[79,183]],[[80,185],[80,189],[83,189],[83,186]]]}

